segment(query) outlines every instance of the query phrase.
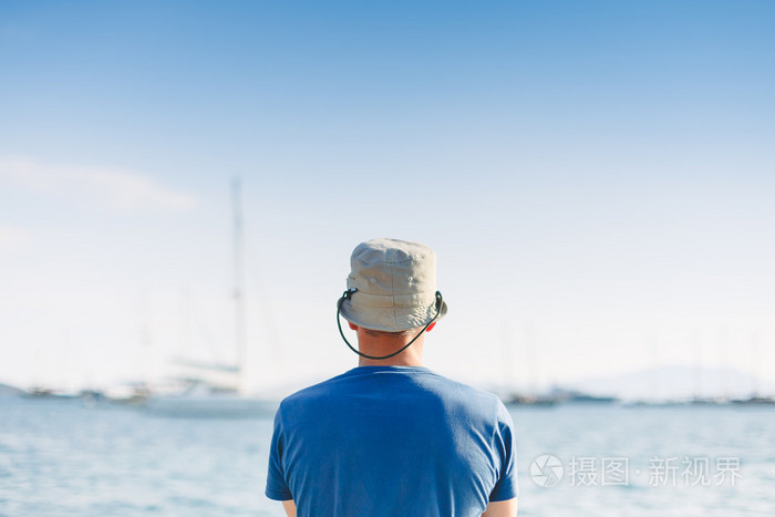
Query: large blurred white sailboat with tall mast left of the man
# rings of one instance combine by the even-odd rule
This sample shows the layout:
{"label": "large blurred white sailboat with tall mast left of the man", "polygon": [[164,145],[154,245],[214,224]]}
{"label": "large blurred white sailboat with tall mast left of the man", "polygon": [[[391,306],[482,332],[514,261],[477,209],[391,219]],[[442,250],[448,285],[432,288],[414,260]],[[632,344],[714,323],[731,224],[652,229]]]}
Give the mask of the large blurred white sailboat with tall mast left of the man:
{"label": "large blurred white sailboat with tall mast left of the man", "polygon": [[188,376],[179,381],[185,386],[175,394],[151,395],[143,409],[152,414],[164,416],[239,418],[271,416],[277,410],[278,402],[247,394],[247,330],[245,300],[245,262],[242,248],[242,211],[239,179],[235,179],[231,188],[232,206],[232,251],[235,270],[235,347],[236,364],[208,364],[193,361],[178,361],[179,364],[206,371],[213,375],[230,379],[230,382],[213,383],[204,375]]}

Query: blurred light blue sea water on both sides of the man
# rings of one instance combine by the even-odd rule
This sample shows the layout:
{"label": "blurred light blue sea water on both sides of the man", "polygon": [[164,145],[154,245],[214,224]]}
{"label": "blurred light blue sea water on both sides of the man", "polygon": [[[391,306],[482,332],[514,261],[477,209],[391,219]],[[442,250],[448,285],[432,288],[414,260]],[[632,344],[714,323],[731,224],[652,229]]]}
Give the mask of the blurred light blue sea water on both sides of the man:
{"label": "blurred light blue sea water on both sides of the man", "polygon": [[[512,410],[520,515],[775,515],[775,407]],[[282,516],[271,418],[0,399],[0,515]]]}

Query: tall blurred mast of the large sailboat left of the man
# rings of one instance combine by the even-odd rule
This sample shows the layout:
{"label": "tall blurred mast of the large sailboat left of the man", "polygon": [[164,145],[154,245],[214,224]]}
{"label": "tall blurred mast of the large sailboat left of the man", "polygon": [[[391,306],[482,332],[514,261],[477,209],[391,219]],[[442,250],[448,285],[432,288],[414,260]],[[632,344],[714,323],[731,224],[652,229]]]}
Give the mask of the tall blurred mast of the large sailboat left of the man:
{"label": "tall blurred mast of the large sailboat left of the man", "polygon": [[245,249],[242,245],[242,196],[239,178],[231,182],[232,210],[232,252],[234,252],[234,304],[235,304],[235,347],[237,349],[237,386],[245,393],[247,364],[247,328],[245,307]]}

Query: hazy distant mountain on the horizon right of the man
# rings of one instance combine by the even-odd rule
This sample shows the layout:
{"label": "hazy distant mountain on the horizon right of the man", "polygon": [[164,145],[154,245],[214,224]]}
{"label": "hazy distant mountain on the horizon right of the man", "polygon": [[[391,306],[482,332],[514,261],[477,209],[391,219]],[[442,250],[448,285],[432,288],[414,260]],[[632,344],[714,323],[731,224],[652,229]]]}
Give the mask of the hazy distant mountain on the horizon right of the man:
{"label": "hazy distant mountain on the horizon right of the man", "polygon": [[757,380],[738,370],[681,365],[592,378],[564,384],[564,387],[623,400],[740,399],[751,396],[754,390],[762,395],[775,394],[775,383]]}

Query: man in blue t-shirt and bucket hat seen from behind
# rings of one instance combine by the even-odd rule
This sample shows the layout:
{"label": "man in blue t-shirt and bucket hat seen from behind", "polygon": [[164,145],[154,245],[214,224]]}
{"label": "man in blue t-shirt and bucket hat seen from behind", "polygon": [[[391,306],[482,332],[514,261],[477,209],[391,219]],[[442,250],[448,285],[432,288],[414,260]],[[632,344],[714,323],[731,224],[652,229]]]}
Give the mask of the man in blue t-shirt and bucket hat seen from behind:
{"label": "man in blue t-shirt and bucket hat seen from behind", "polygon": [[374,239],[351,267],[337,322],[356,332],[359,366],[282,401],[267,497],[289,516],[515,516],[508,412],[423,366],[425,332],[447,312],[433,250]]}

